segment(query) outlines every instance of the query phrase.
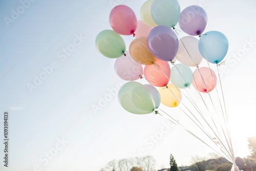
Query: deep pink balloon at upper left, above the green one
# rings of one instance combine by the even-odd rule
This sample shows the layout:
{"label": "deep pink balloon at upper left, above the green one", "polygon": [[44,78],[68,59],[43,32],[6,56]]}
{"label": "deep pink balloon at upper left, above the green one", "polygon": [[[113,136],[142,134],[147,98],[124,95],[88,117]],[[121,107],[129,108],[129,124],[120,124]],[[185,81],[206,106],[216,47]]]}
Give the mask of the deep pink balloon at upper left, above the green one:
{"label": "deep pink balloon at upper left, above the green one", "polygon": [[110,12],[110,26],[121,35],[134,34],[137,28],[137,18],[134,11],[125,5],[115,6]]}

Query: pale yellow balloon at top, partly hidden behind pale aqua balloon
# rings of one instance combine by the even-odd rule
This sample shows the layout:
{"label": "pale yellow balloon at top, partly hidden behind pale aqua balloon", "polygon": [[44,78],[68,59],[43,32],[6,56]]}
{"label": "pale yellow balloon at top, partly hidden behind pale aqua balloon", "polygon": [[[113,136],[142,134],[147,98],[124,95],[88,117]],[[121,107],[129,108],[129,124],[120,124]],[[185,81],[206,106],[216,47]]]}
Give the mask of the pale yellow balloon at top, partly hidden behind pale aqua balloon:
{"label": "pale yellow balloon at top, partly hidden behind pale aqua balloon", "polygon": [[151,5],[154,0],[148,0],[146,1],[140,8],[140,18],[143,23],[145,23],[147,26],[155,27],[157,24],[154,22],[152,16],[151,16]]}

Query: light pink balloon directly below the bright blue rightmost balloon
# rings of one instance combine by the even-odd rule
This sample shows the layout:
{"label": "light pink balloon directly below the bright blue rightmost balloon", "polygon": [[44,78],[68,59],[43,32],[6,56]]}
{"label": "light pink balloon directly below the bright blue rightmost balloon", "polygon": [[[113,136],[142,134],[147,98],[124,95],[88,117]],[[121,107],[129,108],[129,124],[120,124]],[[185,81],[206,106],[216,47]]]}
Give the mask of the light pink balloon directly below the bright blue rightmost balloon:
{"label": "light pink balloon directly below the bright blue rightmost balloon", "polygon": [[[217,77],[213,70],[208,67],[201,67],[194,71],[194,88],[200,92],[208,93],[216,87]],[[206,85],[206,86],[205,86]]]}

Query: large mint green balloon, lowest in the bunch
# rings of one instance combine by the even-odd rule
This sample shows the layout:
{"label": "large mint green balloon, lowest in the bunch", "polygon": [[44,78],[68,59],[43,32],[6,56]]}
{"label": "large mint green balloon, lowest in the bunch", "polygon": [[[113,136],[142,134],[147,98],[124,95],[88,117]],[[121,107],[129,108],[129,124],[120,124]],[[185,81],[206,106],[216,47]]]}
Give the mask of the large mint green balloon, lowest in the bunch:
{"label": "large mint green balloon, lowest in the bunch", "polygon": [[123,109],[133,114],[148,114],[155,110],[153,96],[139,82],[126,82],[118,92]]}

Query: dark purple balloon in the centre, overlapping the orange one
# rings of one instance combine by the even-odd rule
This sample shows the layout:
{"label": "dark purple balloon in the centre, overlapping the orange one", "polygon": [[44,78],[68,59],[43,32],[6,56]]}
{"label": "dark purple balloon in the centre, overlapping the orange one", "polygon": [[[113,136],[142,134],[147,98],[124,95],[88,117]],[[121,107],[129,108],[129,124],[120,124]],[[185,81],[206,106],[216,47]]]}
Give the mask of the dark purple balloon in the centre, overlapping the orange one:
{"label": "dark purple balloon in the centre, overlapping the orange one", "polygon": [[147,36],[147,46],[158,59],[172,61],[179,49],[179,40],[168,26],[156,26]]}

